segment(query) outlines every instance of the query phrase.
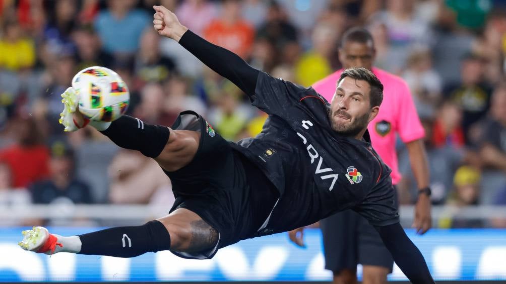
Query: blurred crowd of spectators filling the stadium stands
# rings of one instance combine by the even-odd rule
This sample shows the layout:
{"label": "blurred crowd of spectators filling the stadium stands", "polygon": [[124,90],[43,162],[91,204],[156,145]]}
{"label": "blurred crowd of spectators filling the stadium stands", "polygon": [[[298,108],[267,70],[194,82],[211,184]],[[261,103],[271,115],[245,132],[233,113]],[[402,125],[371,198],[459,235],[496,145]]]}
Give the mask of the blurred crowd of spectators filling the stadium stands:
{"label": "blurred crowd of spectators filling the stadium stands", "polygon": [[[91,127],[65,133],[60,94],[89,66],[130,88],[128,114],[171,126],[201,113],[224,138],[257,135],[265,113],[152,26],[152,6],[274,77],[310,86],[341,68],[350,27],[373,35],[377,68],[402,77],[421,122],[433,204],[506,205],[506,6],[493,0],[2,0],[0,203],[167,204],[155,161]],[[399,143],[401,204],[416,183]],[[441,219],[441,228],[504,220]]]}

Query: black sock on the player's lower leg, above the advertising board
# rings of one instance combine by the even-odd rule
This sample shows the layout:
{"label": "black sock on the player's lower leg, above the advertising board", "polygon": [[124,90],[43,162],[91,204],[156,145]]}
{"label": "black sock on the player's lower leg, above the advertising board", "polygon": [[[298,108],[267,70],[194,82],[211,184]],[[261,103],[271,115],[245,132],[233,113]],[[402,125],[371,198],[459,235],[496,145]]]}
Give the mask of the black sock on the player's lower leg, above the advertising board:
{"label": "black sock on the player's lower leg, above the advertising board", "polygon": [[78,237],[81,240],[79,254],[135,257],[171,248],[171,236],[157,220],[142,226],[109,228]]}

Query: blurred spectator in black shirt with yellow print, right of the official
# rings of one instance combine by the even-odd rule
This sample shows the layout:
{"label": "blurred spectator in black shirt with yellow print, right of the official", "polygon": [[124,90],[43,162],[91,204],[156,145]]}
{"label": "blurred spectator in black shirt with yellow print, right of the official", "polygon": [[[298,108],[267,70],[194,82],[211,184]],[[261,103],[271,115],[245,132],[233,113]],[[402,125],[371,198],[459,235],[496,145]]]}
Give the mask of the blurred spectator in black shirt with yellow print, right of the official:
{"label": "blurred spectator in black shirt with yellow print, right of the official", "polygon": [[448,85],[443,93],[462,108],[462,130],[468,139],[470,126],[483,118],[490,106],[490,87],[483,81],[483,59],[468,53],[462,60],[460,82]]}

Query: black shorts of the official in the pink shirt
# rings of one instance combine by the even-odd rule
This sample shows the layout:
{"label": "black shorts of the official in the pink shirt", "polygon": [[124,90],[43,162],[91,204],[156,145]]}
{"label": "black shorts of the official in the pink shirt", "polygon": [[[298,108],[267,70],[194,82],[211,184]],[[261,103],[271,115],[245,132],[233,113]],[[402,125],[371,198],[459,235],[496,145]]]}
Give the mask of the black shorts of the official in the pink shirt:
{"label": "black shorts of the official in the pink shirt", "polygon": [[335,213],[320,220],[320,229],[325,269],[334,274],[343,269],[355,271],[360,263],[386,267],[392,273],[392,255],[374,227],[359,213],[351,209]]}

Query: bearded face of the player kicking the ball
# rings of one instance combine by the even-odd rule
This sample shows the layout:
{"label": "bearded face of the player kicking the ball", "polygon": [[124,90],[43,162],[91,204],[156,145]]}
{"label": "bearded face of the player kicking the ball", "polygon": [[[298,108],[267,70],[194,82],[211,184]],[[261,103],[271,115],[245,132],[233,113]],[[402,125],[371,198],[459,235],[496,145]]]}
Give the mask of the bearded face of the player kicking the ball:
{"label": "bearded face of the player kicking the ball", "polygon": [[365,81],[346,77],[339,83],[328,113],[335,132],[354,137],[367,128],[372,110],[369,92],[370,86]]}

